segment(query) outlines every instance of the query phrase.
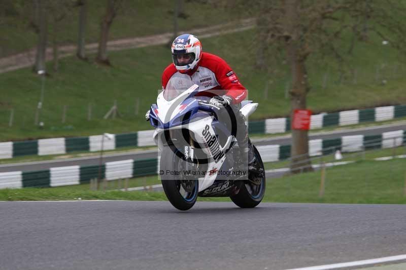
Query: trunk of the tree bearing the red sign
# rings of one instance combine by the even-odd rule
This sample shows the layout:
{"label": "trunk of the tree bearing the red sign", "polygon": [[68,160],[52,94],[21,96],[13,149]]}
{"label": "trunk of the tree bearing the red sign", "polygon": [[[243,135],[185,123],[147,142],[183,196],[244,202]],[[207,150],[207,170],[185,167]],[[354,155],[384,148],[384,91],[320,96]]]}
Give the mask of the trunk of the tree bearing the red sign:
{"label": "trunk of the tree bearing the red sign", "polygon": [[[290,95],[290,119],[293,120],[295,109],[306,109],[306,96],[309,83],[306,71],[306,55],[302,55],[303,44],[300,32],[296,26],[299,16],[297,11],[297,0],[285,2],[286,10],[286,30],[289,35],[286,38],[287,57],[290,62],[292,72],[292,89]],[[307,130],[292,130],[291,164],[292,173],[311,171],[312,164],[309,159],[309,136]]]}

